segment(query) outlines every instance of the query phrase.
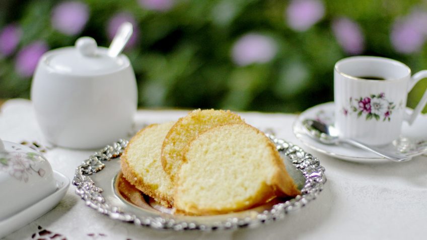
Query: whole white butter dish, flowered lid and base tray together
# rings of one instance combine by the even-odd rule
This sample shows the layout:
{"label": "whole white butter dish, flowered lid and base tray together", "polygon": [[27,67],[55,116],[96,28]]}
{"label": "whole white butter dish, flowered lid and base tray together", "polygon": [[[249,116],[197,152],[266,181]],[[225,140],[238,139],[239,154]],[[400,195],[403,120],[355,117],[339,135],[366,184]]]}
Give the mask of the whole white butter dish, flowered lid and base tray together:
{"label": "whole white butter dish, flowered lid and base tray together", "polygon": [[0,140],[0,238],[52,209],[69,183],[40,152]]}

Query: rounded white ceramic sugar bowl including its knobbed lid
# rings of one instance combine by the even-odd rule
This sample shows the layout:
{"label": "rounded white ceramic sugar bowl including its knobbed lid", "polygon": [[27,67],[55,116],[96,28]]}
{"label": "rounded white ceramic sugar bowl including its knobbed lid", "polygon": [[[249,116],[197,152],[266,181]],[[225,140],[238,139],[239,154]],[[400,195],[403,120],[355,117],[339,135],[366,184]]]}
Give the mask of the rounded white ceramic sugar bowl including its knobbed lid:
{"label": "rounded white ceramic sugar bowl including its knobbed lid", "polygon": [[69,148],[99,148],[126,137],[137,107],[129,59],[83,37],[76,46],[45,53],[36,68],[31,100],[46,139]]}

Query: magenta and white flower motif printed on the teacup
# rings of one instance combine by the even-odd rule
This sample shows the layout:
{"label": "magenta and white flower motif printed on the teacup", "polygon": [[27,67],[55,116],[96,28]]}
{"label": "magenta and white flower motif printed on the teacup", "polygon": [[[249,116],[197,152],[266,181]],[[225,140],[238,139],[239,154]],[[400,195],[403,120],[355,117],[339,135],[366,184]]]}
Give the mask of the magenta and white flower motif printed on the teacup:
{"label": "magenta and white flower motif printed on the teacup", "polygon": [[349,107],[342,108],[345,116],[357,114],[358,118],[365,117],[366,120],[390,121],[396,104],[386,99],[384,93],[370,95],[369,97],[349,99]]}

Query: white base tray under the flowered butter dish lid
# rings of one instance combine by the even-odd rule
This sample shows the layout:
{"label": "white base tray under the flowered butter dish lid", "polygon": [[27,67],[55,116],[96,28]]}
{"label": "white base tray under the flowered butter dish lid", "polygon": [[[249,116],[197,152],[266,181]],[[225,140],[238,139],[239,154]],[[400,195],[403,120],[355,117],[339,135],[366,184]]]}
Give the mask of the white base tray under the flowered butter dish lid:
{"label": "white base tray under the flowered butter dish lid", "polygon": [[0,221],[0,238],[34,221],[59,203],[65,195],[70,181],[56,171],[53,171],[53,178],[57,187],[55,192],[13,216]]}

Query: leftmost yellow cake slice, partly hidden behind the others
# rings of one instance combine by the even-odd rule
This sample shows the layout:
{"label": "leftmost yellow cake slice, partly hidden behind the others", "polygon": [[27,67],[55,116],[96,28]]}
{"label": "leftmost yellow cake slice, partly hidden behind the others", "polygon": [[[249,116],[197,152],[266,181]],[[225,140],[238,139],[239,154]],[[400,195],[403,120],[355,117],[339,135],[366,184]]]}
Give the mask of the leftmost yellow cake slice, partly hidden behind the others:
{"label": "leftmost yellow cake slice, partly hidden behind the others", "polygon": [[121,156],[121,170],[129,183],[164,206],[172,206],[173,185],[163,170],[163,139],[174,122],[150,125],[130,139]]}

